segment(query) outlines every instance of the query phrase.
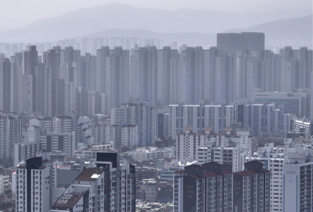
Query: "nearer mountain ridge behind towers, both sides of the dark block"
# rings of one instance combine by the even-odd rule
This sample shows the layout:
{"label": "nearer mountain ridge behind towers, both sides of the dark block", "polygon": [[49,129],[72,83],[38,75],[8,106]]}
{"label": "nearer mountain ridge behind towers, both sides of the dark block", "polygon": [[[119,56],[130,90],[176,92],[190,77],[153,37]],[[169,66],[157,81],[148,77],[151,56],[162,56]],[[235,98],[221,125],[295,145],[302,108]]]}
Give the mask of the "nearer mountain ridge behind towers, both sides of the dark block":
{"label": "nearer mountain ridge behind towers, both sides of the dark block", "polygon": [[[312,15],[285,19],[279,21],[266,22],[251,26],[245,29],[232,29],[224,32],[264,32],[266,45],[289,45],[299,43],[299,45],[309,46],[312,49]],[[109,29],[96,33],[91,33],[83,37],[89,38],[109,38],[109,37],[136,37],[136,38],[160,38],[163,45],[169,45],[176,41],[179,45],[188,44],[190,46],[201,45],[204,48],[216,45],[216,34],[206,33],[157,33],[145,29]],[[310,47],[311,45],[311,47]]]}

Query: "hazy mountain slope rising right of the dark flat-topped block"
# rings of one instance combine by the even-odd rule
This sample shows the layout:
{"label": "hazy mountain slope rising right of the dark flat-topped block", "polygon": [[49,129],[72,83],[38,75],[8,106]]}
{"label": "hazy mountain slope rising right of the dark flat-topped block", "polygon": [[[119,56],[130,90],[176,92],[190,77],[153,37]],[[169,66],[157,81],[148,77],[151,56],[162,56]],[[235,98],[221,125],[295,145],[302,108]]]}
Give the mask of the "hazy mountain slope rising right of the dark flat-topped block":
{"label": "hazy mountain slope rising right of the dark flat-topped block", "polygon": [[313,16],[266,22],[245,29],[231,29],[224,32],[264,32],[266,43],[270,44],[283,40],[311,42],[312,44]]}

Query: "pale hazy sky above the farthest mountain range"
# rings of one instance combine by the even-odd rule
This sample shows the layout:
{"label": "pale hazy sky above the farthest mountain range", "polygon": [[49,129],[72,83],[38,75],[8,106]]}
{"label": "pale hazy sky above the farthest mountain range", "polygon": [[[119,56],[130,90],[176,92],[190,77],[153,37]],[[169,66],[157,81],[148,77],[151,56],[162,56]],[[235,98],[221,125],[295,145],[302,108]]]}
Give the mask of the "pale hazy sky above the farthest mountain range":
{"label": "pale hazy sky above the farthest mountain range", "polygon": [[[43,18],[59,16],[77,9],[107,3],[124,3],[137,7],[175,10],[179,8],[246,12],[257,9],[307,7],[312,0],[0,0],[0,31],[24,26]],[[276,4],[276,7],[275,7]],[[312,9],[312,6],[311,6]]]}

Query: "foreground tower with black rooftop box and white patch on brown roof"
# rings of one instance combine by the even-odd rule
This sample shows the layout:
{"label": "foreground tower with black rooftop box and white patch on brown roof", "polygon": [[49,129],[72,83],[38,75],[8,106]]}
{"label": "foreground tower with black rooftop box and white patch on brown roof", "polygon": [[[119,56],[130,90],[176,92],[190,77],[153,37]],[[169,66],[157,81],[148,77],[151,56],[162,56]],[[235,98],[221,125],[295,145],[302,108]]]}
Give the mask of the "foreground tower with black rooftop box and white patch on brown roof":
{"label": "foreground tower with black rooftop box and white patch on brown roof", "polygon": [[98,152],[96,161],[78,175],[75,184],[96,188],[100,195],[95,192],[99,198],[94,207],[98,211],[135,212],[135,168],[117,153]]}

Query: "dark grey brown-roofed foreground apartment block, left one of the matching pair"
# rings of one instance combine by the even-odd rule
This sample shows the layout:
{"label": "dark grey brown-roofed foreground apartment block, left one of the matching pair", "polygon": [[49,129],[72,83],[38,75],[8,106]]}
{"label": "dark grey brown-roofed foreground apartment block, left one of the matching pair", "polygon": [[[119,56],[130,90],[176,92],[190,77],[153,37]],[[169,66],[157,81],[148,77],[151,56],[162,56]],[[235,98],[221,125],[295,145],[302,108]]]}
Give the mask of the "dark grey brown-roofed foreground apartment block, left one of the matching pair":
{"label": "dark grey brown-roofed foreground apartment block, left one of the matching pair", "polygon": [[[174,212],[232,211],[232,170],[230,166],[210,162],[185,167],[184,176],[174,186]],[[227,189],[223,189],[227,188]]]}

